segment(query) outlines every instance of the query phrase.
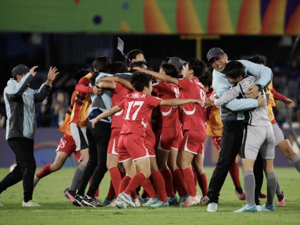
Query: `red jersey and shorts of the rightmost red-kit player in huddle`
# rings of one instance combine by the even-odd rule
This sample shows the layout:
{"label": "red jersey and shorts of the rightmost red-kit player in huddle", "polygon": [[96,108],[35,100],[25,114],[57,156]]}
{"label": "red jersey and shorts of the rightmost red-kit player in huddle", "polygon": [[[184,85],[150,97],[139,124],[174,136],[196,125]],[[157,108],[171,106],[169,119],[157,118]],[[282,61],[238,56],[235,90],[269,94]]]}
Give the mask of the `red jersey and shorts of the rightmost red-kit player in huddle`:
{"label": "red jersey and shorts of the rightmost red-kit player in huddle", "polygon": [[[177,79],[180,98],[200,99],[205,102],[205,89],[198,78]],[[203,141],[205,138],[205,106],[187,103],[181,106],[183,140],[179,150],[193,154],[203,154]]]}

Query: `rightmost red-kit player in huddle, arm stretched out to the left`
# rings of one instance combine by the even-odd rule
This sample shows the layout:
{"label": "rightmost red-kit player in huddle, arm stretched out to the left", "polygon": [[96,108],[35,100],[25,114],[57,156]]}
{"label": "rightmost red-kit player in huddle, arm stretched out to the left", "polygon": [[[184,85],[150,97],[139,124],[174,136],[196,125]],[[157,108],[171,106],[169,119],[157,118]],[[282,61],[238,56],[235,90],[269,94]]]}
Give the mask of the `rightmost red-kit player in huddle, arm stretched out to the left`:
{"label": "rightmost red-kit player in huddle, arm stretched out to the left", "polygon": [[[147,71],[141,68],[136,70],[147,72],[156,79],[177,85],[180,90],[180,98],[194,98],[202,102],[205,101],[205,89],[198,77],[203,74],[205,63],[202,60],[191,58],[184,67],[182,79],[173,78],[165,74]],[[191,206],[200,202],[200,197],[196,192],[194,184],[194,174],[190,167],[192,159],[195,157],[195,172],[201,175],[203,171],[203,141],[205,138],[205,106],[186,104],[182,106],[183,140],[179,145],[177,164],[182,170],[185,180],[188,197],[181,202],[182,206]]]}

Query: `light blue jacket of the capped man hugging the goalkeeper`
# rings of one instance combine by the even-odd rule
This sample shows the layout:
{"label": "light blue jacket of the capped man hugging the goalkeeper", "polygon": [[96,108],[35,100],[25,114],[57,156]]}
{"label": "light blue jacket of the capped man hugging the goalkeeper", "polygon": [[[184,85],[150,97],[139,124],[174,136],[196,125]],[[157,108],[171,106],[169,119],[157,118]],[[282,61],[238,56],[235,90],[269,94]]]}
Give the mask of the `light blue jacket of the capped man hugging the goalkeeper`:
{"label": "light blue jacket of the capped man hugging the goalkeeper", "polygon": [[[259,78],[257,84],[260,84],[264,87],[270,82],[272,78],[272,71],[269,67],[253,63],[248,60],[238,61],[245,66],[246,73],[257,76]],[[212,88],[216,95],[218,97],[222,96],[223,92],[229,90],[230,87],[232,87],[232,85],[227,80],[225,74],[213,69]],[[256,99],[235,98],[221,107],[221,119],[222,121],[241,120],[244,118],[242,111],[251,110],[256,107],[258,107]]]}

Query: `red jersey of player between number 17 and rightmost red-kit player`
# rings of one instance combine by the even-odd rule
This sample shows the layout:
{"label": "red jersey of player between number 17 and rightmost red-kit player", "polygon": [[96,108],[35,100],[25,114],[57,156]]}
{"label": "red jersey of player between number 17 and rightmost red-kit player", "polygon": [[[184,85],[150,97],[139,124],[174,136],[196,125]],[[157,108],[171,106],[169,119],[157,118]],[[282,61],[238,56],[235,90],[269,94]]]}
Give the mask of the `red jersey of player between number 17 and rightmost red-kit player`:
{"label": "red jersey of player between number 17 and rightmost red-kit player", "polygon": [[[180,97],[179,88],[168,82],[161,82],[153,85],[153,90],[161,99],[174,99]],[[178,106],[160,105],[161,127],[177,127],[180,126]]]}

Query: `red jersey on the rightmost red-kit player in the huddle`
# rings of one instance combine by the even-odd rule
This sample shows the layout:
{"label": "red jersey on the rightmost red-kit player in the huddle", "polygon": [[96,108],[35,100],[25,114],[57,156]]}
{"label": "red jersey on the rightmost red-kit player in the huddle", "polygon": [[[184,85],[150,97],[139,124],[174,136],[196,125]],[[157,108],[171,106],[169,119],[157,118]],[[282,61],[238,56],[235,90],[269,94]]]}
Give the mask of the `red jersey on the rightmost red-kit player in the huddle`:
{"label": "red jersey on the rightmost red-kit player in the huddle", "polygon": [[[205,102],[205,89],[198,78],[182,78],[178,80],[181,99],[199,99]],[[204,130],[205,131],[205,106],[195,103],[181,105],[183,130]]]}

